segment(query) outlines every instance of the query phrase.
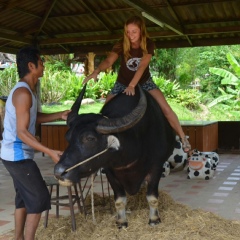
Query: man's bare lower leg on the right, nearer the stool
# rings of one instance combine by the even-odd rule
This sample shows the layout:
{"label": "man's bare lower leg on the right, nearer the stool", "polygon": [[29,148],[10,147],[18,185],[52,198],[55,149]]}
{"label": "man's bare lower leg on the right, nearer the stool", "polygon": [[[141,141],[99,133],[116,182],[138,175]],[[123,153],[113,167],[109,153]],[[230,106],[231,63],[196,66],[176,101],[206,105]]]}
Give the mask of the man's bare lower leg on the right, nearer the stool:
{"label": "man's bare lower leg on the right, nearer the stool", "polygon": [[35,233],[41,218],[41,213],[27,214],[24,240],[34,240]]}

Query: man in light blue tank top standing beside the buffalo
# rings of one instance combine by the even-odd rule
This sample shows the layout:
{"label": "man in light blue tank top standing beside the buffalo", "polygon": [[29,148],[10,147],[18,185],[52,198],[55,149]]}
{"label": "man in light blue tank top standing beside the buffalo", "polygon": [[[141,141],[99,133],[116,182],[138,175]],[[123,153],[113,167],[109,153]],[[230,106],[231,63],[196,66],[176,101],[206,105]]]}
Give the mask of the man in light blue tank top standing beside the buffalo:
{"label": "man in light blue tank top standing beside the buffalo", "polygon": [[41,213],[51,208],[48,189],[33,160],[34,150],[48,154],[55,163],[62,154],[37,141],[35,126],[66,120],[69,110],[53,114],[37,112],[36,85],[44,71],[38,49],[22,48],[17,54],[17,70],[20,80],[6,102],[1,159],[16,191],[15,240],[34,240]]}

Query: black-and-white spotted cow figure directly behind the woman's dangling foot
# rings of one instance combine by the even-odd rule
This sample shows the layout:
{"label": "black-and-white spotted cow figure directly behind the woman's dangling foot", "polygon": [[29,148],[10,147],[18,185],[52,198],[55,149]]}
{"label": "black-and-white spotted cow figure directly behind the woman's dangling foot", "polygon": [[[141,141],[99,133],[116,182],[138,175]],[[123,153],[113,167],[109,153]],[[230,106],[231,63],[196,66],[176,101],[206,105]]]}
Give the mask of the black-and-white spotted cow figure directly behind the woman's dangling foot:
{"label": "black-and-white spotted cow figure directly behind the woman's dangling foot", "polygon": [[179,136],[176,136],[172,155],[168,158],[170,169],[174,171],[183,170],[187,164],[188,154],[183,151]]}

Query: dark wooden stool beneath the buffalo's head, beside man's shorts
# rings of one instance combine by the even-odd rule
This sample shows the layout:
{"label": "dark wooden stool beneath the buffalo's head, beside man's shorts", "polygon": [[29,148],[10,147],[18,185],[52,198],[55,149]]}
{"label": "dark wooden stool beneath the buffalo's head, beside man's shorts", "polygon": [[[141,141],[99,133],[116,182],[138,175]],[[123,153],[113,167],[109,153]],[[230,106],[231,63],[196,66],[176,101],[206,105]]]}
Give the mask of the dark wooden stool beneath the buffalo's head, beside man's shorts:
{"label": "dark wooden stool beneath the buffalo's head, beside man's shorts", "polygon": [[[70,208],[70,214],[71,214],[71,220],[72,220],[72,230],[75,231],[76,230],[76,220],[75,220],[75,215],[74,215],[74,204],[75,203],[77,203],[78,210],[80,212],[82,212],[81,204],[80,204],[80,200],[82,199],[82,196],[80,197],[78,194],[77,184],[73,184],[71,187],[67,187],[68,195],[60,196],[58,181],[54,177],[48,177],[48,176],[44,177],[43,179],[49,188],[49,193],[51,196],[51,205],[56,206],[56,217],[57,218],[59,217],[59,206],[68,206]],[[52,197],[52,191],[53,191],[54,186],[56,187],[56,196]],[[74,194],[72,193],[72,188],[74,189]],[[81,195],[82,195],[82,192],[81,192]],[[66,200],[66,199],[69,200],[68,203],[61,202],[61,200]],[[83,203],[83,201],[82,201],[82,203]],[[85,213],[84,205],[83,205],[83,209],[84,209],[84,213]],[[45,228],[47,227],[47,224],[48,224],[48,214],[49,214],[49,210],[46,210],[45,211],[45,219],[44,219],[44,227]]]}

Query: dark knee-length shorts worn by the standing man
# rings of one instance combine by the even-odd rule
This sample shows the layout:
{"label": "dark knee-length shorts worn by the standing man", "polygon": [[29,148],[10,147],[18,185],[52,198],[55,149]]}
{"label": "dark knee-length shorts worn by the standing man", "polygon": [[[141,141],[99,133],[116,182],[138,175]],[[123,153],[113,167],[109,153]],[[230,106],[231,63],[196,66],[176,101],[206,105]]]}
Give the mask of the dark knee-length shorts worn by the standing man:
{"label": "dark knee-length shorts worn by the standing man", "polygon": [[26,208],[27,213],[41,213],[51,209],[49,191],[37,164],[32,159],[2,162],[13,178],[17,209]]}

